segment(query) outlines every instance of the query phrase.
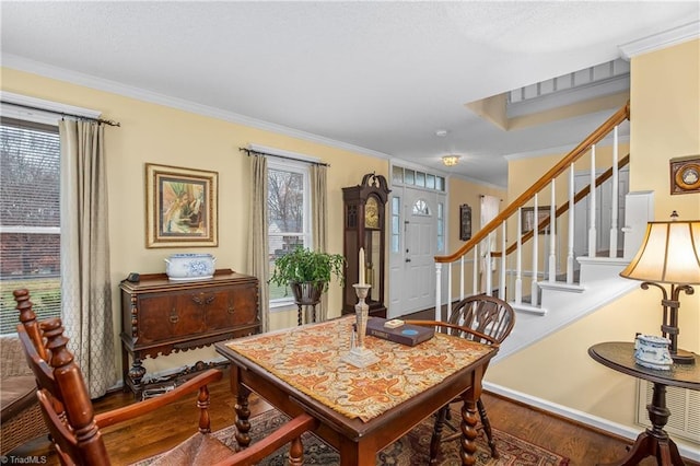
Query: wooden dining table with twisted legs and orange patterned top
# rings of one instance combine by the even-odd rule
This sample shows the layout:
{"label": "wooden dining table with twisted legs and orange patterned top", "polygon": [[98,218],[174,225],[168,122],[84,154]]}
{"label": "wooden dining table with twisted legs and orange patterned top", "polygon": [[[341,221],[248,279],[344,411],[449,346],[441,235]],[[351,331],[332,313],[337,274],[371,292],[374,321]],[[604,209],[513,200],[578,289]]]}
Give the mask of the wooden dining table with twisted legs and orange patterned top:
{"label": "wooden dining table with twisted legs and orange patterned top", "polygon": [[376,453],[423,419],[462,397],[462,463],[474,465],[481,380],[498,348],[436,333],[415,347],[368,336],[380,362],[355,368],[350,350],[354,316],[215,343],[231,362],[236,441],[250,442],[248,396],[255,392],[290,417],[318,419],[315,433],[343,466],[374,466]]}

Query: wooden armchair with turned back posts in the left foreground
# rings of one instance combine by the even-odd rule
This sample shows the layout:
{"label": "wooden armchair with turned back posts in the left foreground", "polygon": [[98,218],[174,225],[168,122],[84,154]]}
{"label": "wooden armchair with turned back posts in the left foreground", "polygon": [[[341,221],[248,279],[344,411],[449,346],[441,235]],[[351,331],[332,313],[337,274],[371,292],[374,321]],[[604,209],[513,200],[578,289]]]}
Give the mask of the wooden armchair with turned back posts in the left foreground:
{"label": "wooden armchair with turned back posts in the left foreground", "polygon": [[159,397],[94,415],[82,372],[73,354],[66,348],[68,338],[63,336],[60,319],[52,318],[40,324],[40,340],[46,340],[44,348],[49,356],[49,363],[39,356],[23,324],[18,325],[18,334],[32,371],[37,376],[37,398],[62,465],[109,465],[109,455],[100,429],[133,420],[194,392],[198,392],[199,432],[161,455],[153,465],[249,465],[288,443],[289,463],[301,465],[301,434],[318,426],[317,420],[304,413],[248,448],[234,452],[210,434],[207,385],[221,380],[219,370],[206,371]]}

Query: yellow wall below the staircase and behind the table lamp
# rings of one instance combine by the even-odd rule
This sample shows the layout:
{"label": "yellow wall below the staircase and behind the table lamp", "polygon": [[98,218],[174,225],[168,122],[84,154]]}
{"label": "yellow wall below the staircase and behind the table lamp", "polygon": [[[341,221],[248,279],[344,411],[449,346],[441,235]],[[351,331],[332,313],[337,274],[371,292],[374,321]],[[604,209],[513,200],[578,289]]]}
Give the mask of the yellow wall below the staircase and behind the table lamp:
{"label": "yellow wall below the staircase and behind the table lamp", "polygon": [[[632,59],[630,190],[655,191],[658,220],[667,219],[673,209],[681,219],[700,219],[700,194],[670,196],[668,174],[669,159],[700,154],[699,67],[700,40]],[[509,172],[522,173],[512,164]],[[700,353],[698,291],[681,294],[679,313],[679,347],[696,353]],[[594,362],[587,348],[602,341],[632,341],[637,331],[658,335],[661,319],[658,290],[634,291],[492,365],[487,380],[639,430],[635,380]]]}

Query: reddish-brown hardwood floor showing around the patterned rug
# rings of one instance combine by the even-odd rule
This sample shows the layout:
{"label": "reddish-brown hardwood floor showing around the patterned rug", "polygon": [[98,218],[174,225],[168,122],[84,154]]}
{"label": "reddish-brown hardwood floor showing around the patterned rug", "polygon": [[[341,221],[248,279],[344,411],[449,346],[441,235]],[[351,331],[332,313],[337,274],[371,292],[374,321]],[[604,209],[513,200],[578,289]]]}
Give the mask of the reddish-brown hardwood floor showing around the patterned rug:
{"label": "reddish-brown hardwood floor showing around the patterned rug", "polygon": [[[626,453],[627,441],[614,439],[594,432],[582,426],[534,410],[527,406],[497,397],[483,395],[489,418],[494,428],[525,439],[532,443],[570,458],[571,466],[592,466],[598,462],[612,462]],[[130,394],[112,393],[95,401],[97,412],[133,403]],[[211,424],[219,430],[234,422],[234,400],[229,389],[228,374],[222,382],[211,387]],[[253,415],[269,408],[264,400],[252,396]],[[103,431],[112,464],[127,465],[138,459],[166,451],[187,439],[197,429],[197,408],[195,397],[178,401],[158,413],[147,416],[139,423],[127,423]],[[47,465],[57,465],[58,459],[51,453],[46,440],[33,441],[12,455],[46,456]],[[646,458],[644,466],[654,465],[653,458]],[[688,465],[698,466],[688,462]]]}

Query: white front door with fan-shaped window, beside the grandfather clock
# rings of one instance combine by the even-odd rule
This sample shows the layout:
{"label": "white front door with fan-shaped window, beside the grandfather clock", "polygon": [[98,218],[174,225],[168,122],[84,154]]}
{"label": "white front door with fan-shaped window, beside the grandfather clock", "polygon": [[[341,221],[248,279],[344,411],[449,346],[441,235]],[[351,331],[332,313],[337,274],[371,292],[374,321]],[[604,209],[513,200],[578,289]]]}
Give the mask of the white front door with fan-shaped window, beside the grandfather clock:
{"label": "white front door with fan-shaped window, beside the grandfather clock", "polygon": [[394,189],[394,196],[400,199],[402,237],[389,251],[389,318],[435,305],[438,202],[444,198],[408,187]]}

